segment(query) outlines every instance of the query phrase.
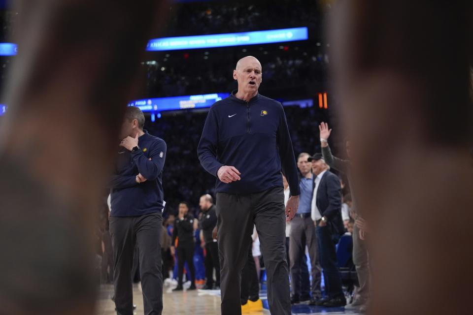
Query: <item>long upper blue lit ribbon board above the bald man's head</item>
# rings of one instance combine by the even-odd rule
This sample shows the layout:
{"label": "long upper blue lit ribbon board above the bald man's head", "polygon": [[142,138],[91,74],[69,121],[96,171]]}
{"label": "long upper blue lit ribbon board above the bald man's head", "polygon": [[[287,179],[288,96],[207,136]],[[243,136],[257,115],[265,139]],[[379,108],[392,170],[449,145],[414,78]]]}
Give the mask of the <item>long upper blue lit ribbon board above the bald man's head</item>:
{"label": "long upper blue lit ribbon board above the bald man's head", "polygon": [[151,39],[148,42],[146,50],[166,51],[179,49],[228,47],[281,43],[307,39],[308,31],[306,27],[303,27],[271,31],[156,38]]}

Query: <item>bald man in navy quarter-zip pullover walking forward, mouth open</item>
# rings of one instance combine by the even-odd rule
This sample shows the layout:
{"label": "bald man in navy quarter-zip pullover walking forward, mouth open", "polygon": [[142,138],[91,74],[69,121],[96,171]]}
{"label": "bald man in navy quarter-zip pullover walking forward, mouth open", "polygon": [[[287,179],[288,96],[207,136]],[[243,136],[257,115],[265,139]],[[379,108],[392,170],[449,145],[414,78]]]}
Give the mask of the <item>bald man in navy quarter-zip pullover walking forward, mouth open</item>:
{"label": "bald man in navy quarter-zip pullover walking forward, mouth open", "polygon": [[[216,213],[222,315],[240,315],[240,281],[256,225],[267,271],[272,315],[290,315],[285,221],[299,206],[296,159],[281,103],[258,94],[261,63],[245,57],[236,63],[238,89],[210,108],[198,155],[217,177]],[[284,207],[281,172],[291,197]],[[251,302],[248,302],[251,304]],[[251,309],[251,305],[249,308]]]}

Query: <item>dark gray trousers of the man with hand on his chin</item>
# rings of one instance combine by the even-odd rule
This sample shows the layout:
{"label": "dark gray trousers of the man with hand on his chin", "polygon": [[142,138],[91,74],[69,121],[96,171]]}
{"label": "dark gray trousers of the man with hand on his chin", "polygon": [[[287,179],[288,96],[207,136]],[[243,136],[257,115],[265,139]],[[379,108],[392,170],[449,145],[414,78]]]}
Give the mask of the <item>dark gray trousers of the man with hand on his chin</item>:
{"label": "dark gray trousers of the man with hand on his chin", "polygon": [[135,244],[139,252],[139,274],[145,315],[163,311],[163,274],[161,272],[161,213],[140,217],[110,217],[115,288],[119,315],[133,315],[132,265]]}

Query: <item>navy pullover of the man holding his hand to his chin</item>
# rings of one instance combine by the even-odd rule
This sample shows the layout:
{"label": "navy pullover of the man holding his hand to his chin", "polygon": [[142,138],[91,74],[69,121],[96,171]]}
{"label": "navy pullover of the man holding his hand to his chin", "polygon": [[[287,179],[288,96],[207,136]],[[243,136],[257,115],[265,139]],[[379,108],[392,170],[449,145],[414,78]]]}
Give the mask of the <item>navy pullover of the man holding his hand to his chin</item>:
{"label": "navy pullover of the man holding his hand to his chin", "polygon": [[[113,217],[136,217],[163,211],[166,142],[145,130],[138,138],[138,147],[140,150],[134,153],[123,147],[119,149],[117,166],[110,182],[110,215]],[[136,183],[138,173],[147,181]]]}

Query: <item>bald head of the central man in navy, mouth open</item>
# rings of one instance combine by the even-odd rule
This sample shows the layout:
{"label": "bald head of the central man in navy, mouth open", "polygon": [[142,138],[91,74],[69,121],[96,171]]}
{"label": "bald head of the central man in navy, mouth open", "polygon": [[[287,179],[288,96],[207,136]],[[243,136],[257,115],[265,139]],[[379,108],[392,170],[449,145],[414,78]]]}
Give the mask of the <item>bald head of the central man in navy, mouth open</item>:
{"label": "bald head of the central man in navy, mouth open", "polygon": [[258,94],[262,81],[261,63],[253,56],[241,58],[233,70],[233,78],[238,81],[236,97],[249,101]]}

